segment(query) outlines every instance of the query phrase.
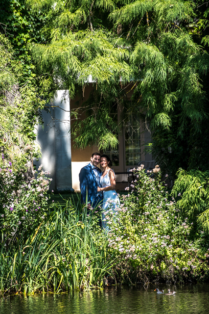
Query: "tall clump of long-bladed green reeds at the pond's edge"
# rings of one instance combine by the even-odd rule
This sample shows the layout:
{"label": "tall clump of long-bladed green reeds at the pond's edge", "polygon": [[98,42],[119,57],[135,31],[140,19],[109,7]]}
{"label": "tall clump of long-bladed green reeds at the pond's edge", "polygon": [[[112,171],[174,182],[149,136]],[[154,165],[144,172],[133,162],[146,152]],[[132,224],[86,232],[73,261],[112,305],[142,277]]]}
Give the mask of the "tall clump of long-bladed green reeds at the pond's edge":
{"label": "tall clump of long-bladed green reeds at the pond's edge", "polygon": [[[113,265],[99,217],[70,200],[59,204],[30,235],[1,237],[0,293],[32,294],[103,286]],[[101,241],[96,241],[96,235]],[[100,244],[99,244],[100,243]],[[102,243],[102,245],[101,245]]]}

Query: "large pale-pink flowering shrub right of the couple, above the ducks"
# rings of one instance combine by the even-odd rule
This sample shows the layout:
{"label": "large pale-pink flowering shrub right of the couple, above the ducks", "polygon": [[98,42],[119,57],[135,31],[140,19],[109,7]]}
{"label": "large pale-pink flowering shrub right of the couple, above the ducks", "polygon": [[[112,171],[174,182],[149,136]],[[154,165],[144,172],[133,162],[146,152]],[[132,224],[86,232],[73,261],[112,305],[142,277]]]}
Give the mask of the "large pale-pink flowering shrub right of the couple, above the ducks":
{"label": "large pale-pink flowering shrub right of the couple, above the ducks", "polygon": [[143,168],[133,169],[136,180],[132,188],[137,192],[132,189],[122,195],[119,208],[114,212],[110,207],[105,212],[109,249],[126,264],[131,262],[140,271],[151,271],[155,276],[182,277],[190,271],[196,277],[203,268],[208,271],[201,240],[189,240],[192,223],[181,217],[174,198],[168,200],[159,166],[148,174]]}

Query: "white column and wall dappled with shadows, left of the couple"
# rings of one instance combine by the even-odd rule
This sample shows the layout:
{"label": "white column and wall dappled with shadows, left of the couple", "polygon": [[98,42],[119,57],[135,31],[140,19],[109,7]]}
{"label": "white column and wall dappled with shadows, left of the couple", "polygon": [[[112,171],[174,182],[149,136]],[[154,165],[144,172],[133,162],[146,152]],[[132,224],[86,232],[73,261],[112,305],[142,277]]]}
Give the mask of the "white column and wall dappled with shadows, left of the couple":
{"label": "white column and wall dappled with shadows, left of the couple", "polygon": [[[63,100],[64,99],[64,100]],[[73,191],[71,179],[71,143],[70,143],[70,100],[65,91],[57,91],[53,107],[43,111],[43,126],[37,126],[37,143],[41,147],[42,157],[34,161],[37,166],[49,171],[52,182],[50,190]]]}

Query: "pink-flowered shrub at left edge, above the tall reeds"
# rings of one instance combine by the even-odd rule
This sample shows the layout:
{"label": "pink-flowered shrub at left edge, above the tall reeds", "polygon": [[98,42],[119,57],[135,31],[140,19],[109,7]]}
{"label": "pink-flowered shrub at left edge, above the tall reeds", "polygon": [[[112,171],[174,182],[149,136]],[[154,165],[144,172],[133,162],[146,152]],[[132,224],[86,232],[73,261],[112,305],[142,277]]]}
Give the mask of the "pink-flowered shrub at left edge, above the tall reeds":
{"label": "pink-flowered shrub at left edge, above the tall reeds", "polygon": [[[16,172],[12,163],[4,160],[0,168],[0,229],[10,235],[15,231],[29,231],[40,224],[46,215],[46,196],[49,172],[39,167],[37,179],[25,181],[24,174]],[[36,171],[35,171],[36,172]]]}

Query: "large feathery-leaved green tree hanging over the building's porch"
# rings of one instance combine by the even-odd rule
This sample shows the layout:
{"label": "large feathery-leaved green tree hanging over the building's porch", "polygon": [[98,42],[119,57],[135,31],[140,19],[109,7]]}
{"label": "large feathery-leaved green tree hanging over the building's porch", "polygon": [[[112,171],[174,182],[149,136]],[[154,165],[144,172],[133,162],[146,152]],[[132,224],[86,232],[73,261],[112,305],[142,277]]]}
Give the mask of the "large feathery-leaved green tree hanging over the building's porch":
{"label": "large feathery-leaved green tree hanging over the building's porch", "polygon": [[[198,45],[206,23],[201,17],[208,14],[202,0],[26,0],[26,4],[34,14],[46,12],[41,30],[45,42],[31,45],[38,73],[46,74],[43,95],[66,88],[73,98],[78,92],[82,95],[93,79],[91,101],[74,113],[78,146],[114,147],[127,111],[138,107],[154,131],[151,149],[154,155],[157,152],[156,159],[166,159],[168,147],[171,152],[179,147],[182,153],[169,155],[174,165],[168,164],[170,173],[177,171],[179,157],[181,166],[197,167],[205,150],[196,154],[201,150],[196,142],[208,124],[204,82],[209,55]],[[135,89],[131,104],[124,91],[129,83]],[[110,110],[117,106],[122,114],[116,126]],[[96,136],[95,128],[88,128],[93,124],[99,126]]]}

